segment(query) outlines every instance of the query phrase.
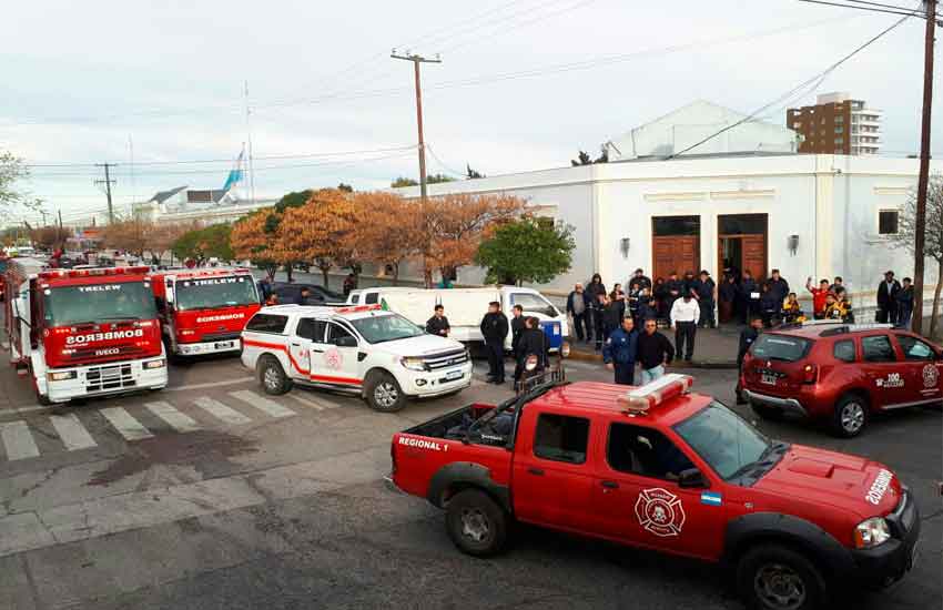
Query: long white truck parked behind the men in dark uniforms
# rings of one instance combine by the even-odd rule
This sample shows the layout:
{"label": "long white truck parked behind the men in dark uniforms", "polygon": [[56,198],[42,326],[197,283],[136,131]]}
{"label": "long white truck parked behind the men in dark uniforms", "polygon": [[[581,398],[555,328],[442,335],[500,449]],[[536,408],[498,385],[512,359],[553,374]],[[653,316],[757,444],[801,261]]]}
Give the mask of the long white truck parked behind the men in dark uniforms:
{"label": "long white truck parked behind the men in dark uniforms", "polygon": [[[535,316],[550,339],[550,350],[556,352],[569,333],[567,316],[547,297],[534,288],[518,286],[494,286],[485,288],[408,288],[384,287],[352,291],[347,296],[351,305],[382,305],[425,327],[436,305],[445,307],[445,317],[452,326],[448,338],[462,343],[483,342],[481,318],[488,313],[488,303],[497,301],[501,311],[511,318],[515,305],[524,307],[524,315]],[[508,325],[510,326],[510,325]],[[510,332],[505,338],[505,349],[510,349]]]}

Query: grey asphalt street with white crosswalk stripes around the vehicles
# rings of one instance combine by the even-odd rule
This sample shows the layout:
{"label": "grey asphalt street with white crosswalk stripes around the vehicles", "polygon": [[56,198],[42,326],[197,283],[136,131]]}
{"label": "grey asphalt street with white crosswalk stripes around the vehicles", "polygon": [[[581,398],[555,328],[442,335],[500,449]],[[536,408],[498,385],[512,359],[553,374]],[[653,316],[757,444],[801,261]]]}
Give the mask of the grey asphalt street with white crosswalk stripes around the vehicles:
{"label": "grey asphalt street with white crosswalk stripes around the vehicles", "polygon": [[[733,373],[693,372],[732,404]],[[570,379],[609,379],[570,363]],[[740,608],[711,566],[520,528],[510,550],[459,553],[443,515],[391,491],[389,438],[510,387],[376,414],[338,394],[261,394],[235,358],[175,366],[159,393],[36,405],[0,375],[0,609]],[[738,410],[752,419],[748,409]],[[865,455],[914,490],[915,570],[859,609],[941,603],[941,413],[876,418],[853,440],[803,423],[769,435]]]}

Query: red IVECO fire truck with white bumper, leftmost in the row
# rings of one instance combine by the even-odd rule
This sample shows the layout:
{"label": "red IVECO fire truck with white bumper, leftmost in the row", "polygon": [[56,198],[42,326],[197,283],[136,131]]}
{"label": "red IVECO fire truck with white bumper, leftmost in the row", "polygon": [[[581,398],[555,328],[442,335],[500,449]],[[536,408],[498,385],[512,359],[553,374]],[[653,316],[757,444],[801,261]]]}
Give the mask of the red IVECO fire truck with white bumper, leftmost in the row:
{"label": "red IVECO fire truck with white bumper, leftmost in the row", "polygon": [[12,258],[6,273],[11,363],[40,403],[168,384],[148,267],[48,270]]}

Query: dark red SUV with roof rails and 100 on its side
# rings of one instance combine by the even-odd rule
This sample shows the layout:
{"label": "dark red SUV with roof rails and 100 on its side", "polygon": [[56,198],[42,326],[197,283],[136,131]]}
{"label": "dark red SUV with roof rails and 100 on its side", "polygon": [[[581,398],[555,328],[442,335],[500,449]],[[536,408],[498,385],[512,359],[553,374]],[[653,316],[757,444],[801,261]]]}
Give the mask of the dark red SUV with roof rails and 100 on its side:
{"label": "dark red SUV with roof rails and 100 on its side", "polygon": [[888,325],[807,324],[763,333],[740,373],[764,418],[785,411],[828,419],[858,436],[872,413],[943,405],[943,348]]}

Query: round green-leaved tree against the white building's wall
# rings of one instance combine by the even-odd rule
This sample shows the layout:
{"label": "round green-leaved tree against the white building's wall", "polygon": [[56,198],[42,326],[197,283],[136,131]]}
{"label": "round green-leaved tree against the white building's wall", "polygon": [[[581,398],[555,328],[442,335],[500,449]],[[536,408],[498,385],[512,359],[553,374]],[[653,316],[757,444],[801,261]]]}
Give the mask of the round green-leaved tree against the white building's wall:
{"label": "round green-leaved tree against the white building's wall", "polygon": [[570,270],[572,232],[564,223],[525,216],[498,226],[481,242],[475,263],[487,270],[489,283],[546,284]]}

